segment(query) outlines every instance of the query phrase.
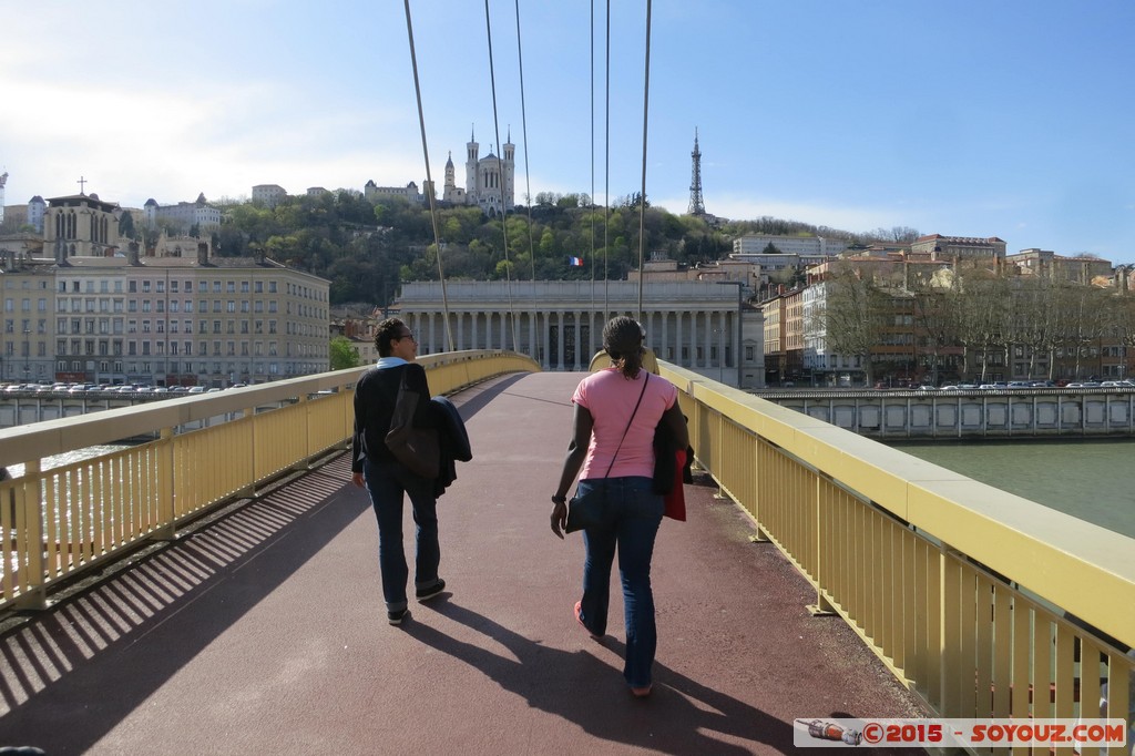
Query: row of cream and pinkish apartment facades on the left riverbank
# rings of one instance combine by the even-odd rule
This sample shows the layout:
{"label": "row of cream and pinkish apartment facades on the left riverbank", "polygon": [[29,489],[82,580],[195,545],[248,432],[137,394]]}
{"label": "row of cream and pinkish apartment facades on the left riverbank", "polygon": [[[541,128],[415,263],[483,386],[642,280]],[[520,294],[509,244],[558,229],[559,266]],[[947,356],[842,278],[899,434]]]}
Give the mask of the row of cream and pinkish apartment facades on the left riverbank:
{"label": "row of cream and pinkish apartment facades on the left riverbank", "polygon": [[6,266],[3,380],[227,386],[328,369],[329,282],[272,260],[202,243]]}

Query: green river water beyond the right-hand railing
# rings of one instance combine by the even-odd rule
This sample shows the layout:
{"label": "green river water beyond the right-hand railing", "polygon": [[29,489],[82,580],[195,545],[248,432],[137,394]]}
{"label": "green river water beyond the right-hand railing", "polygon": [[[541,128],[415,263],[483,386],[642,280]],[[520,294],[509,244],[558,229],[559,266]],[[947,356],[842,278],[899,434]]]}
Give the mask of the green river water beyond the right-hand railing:
{"label": "green river water beyond the right-hand railing", "polygon": [[1052,439],[1029,442],[925,442],[889,444],[1135,538],[1135,439]]}

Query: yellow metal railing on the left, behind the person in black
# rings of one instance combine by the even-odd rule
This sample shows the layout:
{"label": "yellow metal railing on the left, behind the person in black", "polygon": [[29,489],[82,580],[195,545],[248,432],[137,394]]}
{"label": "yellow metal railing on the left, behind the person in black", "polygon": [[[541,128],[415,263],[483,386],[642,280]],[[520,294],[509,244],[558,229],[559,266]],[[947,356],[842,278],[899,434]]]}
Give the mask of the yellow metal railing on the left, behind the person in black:
{"label": "yellow metal railing on the left, behind the person in black", "polygon": [[[538,371],[511,352],[421,358],[435,394],[493,376]],[[42,606],[65,578],[173,538],[178,526],[345,448],[363,368],[0,430],[0,460],[24,464],[0,481],[0,611]],[[47,469],[43,460],[150,437]]]}

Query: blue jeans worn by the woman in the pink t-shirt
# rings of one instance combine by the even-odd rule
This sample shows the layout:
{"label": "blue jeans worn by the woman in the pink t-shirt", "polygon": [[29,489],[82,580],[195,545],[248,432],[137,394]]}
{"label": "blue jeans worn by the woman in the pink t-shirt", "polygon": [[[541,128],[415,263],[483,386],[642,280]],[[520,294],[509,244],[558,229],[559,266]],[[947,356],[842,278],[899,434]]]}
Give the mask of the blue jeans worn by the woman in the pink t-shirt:
{"label": "blue jeans worn by the woman in the pink t-shirt", "polygon": [[583,531],[583,602],[580,619],[595,635],[607,629],[611,599],[611,565],[619,548],[619,576],[623,583],[623,623],[627,660],[623,677],[632,688],[650,684],[650,667],[658,646],[650,589],[654,539],[665,511],[663,497],[650,490],[650,478],[592,478],[579,481],[578,494],[606,489],[606,521]]}

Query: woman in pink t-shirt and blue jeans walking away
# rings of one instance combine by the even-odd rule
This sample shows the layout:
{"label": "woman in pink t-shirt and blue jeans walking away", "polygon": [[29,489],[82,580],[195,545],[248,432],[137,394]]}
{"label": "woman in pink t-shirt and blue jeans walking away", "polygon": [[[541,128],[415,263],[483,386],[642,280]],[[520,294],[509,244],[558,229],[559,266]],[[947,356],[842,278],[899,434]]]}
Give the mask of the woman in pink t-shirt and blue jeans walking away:
{"label": "woman in pink t-shirt and blue jeans walking away", "polygon": [[651,492],[655,428],[665,422],[678,448],[689,445],[678,389],[642,368],[644,335],[642,327],[627,317],[613,318],[603,329],[603,348],[612,366],[589,375],[572,395],[572,439],[552,496],[552,532],[560,538],[577,474],[577,496],[604,497],[602,523],[583,531],[583,597],[575,604],[575,619],[592,638],[606,632],[611,566],[617,551],[627,629],[623,677],[640,698],[650,695],[657,647],[650,558],[664,503]]}

